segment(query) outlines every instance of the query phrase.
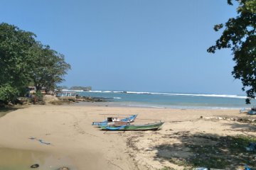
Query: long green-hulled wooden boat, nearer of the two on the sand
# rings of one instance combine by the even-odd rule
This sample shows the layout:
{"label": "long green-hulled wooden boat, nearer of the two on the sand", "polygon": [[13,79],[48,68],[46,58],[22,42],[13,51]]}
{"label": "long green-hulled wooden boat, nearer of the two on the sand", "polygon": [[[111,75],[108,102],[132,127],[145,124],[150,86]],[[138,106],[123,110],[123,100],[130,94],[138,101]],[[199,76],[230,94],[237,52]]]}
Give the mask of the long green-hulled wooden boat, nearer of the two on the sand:
{"label": "long green-hulled wooden boat, nearer of the two on the sand", "polygon": [[100,125],[102,130],[159,130],[164,122],[159,123],[148,123],[144,125],[131,125],[130,123],[107,123]]}

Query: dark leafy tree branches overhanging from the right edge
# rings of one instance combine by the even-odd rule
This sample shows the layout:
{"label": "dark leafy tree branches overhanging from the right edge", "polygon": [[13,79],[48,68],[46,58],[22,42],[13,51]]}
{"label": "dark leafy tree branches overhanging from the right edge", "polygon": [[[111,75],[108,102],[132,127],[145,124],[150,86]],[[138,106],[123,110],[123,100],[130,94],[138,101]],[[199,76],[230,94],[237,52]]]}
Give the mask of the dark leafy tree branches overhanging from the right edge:
{"label": "dark leafy tree branches overhanging from the right edge", "polygon": [[[242,91],[246,91],[246,103],[255,98],[256,94],[256,0],[235,0],[239,2],[238,16],[230,18],[225,23],[225,30],[215,45],[208,48],[208,52],[231,48],[233,51],[233,77],[242,81]],[[233,5],[232,0],[228,0]],[[214,26],[218,31],[223,24]]]}

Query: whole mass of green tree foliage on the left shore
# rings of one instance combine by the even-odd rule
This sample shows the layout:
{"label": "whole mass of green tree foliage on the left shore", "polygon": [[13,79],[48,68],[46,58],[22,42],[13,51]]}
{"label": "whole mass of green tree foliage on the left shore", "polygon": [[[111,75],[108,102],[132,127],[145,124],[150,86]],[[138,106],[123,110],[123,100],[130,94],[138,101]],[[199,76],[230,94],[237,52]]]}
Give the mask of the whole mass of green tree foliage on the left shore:
{"label": "whole mass of green tree foliage on the left shore", "polygon": [[0,106],[17,103],[29,93],[28,86],[53,91],[70,69],[64,55],[36,40],[36,34],[0,23]]}

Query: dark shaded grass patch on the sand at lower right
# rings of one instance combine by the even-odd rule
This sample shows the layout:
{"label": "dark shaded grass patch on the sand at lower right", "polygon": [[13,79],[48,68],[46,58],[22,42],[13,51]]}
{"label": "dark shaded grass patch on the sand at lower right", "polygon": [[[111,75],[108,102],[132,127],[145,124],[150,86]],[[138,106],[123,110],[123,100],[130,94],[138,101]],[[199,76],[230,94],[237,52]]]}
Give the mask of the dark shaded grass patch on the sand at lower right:
{"label": "dark shaded grass patch on the sand at lower right", "polygon": [[[201,140],[206,140],[202,144],[198,142],[191,142],[188,139],[199,137]],[[213,144],[210,145],[210,141]],[[181,136],[182,144],[175,145],[161,145],[156,147],[159,153],[170,153],[176,150],[177,156],[160,157],[160,159],[169,160],[172,164],[183,166],[188,169],[193,167],[208,167],[208,169],[235,169],[238,166],[247,164],[250,168],[256,167],[256,151],[247,151],[246,147],[250,142],[256,142],[255,137],[248,137],[244,135],[227,136],[227,137],[209,137],[209,135],[186,135]],[[178,148],[178,149],[177,149]],[[178,154],[185,148],[189,148],[189,157],[182,157]],[[158,154],[161,156],[161,154]]]}

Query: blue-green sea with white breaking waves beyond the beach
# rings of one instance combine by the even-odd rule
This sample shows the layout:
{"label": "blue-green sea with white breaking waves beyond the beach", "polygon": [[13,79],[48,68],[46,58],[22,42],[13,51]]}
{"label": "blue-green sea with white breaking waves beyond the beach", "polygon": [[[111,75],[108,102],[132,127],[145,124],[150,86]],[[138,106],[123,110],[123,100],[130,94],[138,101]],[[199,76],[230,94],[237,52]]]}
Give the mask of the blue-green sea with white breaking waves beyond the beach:
{"label": "blue-green sea with white breaking waves beyond the beach", "polygon": [[[68,91],[68,90],[63,90]],[[185,94],[142,91],[75,91],[79,96],[105,98],[117,106],[179,109],[242,109],[256,106],[246,96],[230,94]]]}

